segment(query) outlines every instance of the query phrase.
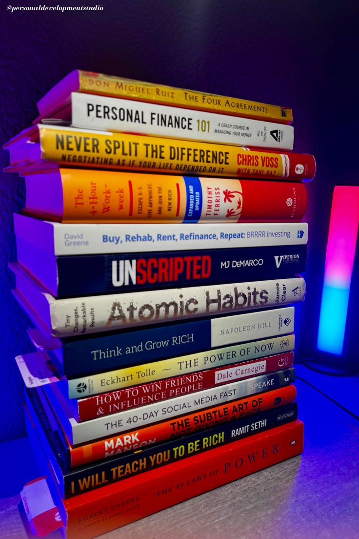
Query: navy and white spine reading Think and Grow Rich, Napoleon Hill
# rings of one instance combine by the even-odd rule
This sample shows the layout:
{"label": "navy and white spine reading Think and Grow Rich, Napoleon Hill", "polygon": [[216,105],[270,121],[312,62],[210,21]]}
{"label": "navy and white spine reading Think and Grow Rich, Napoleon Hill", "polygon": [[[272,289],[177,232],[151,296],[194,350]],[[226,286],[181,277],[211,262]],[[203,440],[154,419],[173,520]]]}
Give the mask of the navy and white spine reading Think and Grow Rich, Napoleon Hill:
{"label": "navy and white spine reading Think and Grow Rich, Napoleon Hill", "polygon": [[[264,313],[266,313],[265,316]],[[247,315],[251,315],[250,323],[253,326],[257,323],[257,326],[261,325],[262,328],[256,326],[256,330],[251,329],[245,333],[236,332],[241,323],[249,323]],[[279,331],[277,328],[279,319],[283,319],[284,324],[292,323],[293,314],[291,318],[288,318],[285,308],[283,310],[265,309],[257,313],[242,313],[235,316],[236,322],[230,320],[231,315],[223,315],[188,322],[159,323],[144,329],[131,328],[125,331],[108,331],[99,335],[64,337],[61,338],[62,365],[59,370],[68,378],[76,378],[163,358],[194,354],[233,343],[252,341],[254,338],[260,340],[292,333],[290,325],[283,325]],[[213,337],[213,327],[217,320],[224,317],[228,319],[226,327],[230,328],[231,332],[233,331],[233,336],[231,340],[222,344],[218,343],[217,337]],[[259,324],[259,319],[263,322],[262,324]],[[52,357],[52,353],[49,355]]]}

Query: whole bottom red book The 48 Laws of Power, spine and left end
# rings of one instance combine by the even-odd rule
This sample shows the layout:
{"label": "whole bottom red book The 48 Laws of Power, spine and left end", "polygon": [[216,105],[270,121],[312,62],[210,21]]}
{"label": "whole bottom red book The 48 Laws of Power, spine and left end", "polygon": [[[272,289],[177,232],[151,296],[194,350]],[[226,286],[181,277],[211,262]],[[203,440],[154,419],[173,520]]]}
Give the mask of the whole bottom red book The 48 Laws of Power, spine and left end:
{"label": "whole bottom red book The 48 Laws of Power, spine and left end", "polygon": [[43,477],[24,486],[25,512],[35,533],[41,530],[45,535],[63,527],[66,539],[78,539],[79,536],[91,539],[295,457],[303,451],[304,434],[302,422],[291,421],[62,500],[38,435],[34,429],[30,432],[41,473],[46,479]]}

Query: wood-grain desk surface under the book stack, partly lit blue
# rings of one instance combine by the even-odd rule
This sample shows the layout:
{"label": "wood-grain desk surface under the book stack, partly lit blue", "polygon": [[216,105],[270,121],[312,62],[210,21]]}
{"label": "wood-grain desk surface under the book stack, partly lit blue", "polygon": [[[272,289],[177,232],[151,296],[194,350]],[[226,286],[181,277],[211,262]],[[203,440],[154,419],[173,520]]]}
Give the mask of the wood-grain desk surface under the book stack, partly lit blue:
{"label": "wood-grain desk surface under the book stack, partly lit blue", "polygon": [[[301,365],[296,370],[299,418],[305,424],[301,457],[111,531],[102,539],[359,537],[359,423],[305,382],[311,382],[310,371]],[[11,485],[0,485],[0,539],[27,539],[17,509],[18,493],[38,475],[27,438],[0,445],[0,466],[16,471]]]}

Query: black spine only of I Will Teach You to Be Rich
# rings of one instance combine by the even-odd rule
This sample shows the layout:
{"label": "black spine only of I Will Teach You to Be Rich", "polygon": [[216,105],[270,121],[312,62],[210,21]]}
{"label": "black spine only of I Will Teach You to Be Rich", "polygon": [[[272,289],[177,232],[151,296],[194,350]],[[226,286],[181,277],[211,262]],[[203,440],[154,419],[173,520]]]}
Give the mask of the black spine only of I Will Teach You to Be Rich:
{"label": "black spine only of I Will Teach You to Be Rich", "polygon": [[245,417],[213,429],[189,434],[185,438],[166,441],[134,453],[125,453],[91,466],[72,469],[64,474],[64,497],[83,494],[89,490],[149,472],[159,466],[200,454],[217,446],[228,444],[294,421],[298,417],[297,403],[267,410],[253,417]]}

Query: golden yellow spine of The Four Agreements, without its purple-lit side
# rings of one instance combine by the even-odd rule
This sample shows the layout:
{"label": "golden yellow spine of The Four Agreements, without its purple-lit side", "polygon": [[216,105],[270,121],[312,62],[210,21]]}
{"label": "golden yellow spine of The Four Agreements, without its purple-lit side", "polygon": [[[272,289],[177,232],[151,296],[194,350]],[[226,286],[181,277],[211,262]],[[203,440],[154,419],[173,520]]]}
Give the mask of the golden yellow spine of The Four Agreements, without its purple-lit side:
{"label": "golden yellow spine of The Four Agreements, without its purple-lit side", "polygon": [[86,71],[80,71],[79,78],[81,92],[151,103],[164,103],[165,105],[195,110],[210,110],[216,113],[279,123],[291,123],[293,121],[292,109],[288,107],[268,105],[194,90],[172,88],[171,86],[152,84],[151,82],[110,77]]}

